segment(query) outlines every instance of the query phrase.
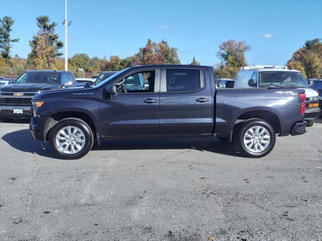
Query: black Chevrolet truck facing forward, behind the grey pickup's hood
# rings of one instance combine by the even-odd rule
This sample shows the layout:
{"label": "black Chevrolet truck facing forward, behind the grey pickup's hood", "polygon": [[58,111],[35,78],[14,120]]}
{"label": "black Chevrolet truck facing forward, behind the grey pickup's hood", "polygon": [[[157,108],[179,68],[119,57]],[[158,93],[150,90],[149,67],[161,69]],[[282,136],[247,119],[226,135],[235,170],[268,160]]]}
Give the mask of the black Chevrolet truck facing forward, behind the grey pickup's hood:
{"label": "black Chevrolet truck facing forward, behind the grey pickup's hood", "polygon": [[74,76],[67,71],[26,71],[13,83],[0,87],[0,120],[33,116],[31,99],[39,92],[77,86]]}

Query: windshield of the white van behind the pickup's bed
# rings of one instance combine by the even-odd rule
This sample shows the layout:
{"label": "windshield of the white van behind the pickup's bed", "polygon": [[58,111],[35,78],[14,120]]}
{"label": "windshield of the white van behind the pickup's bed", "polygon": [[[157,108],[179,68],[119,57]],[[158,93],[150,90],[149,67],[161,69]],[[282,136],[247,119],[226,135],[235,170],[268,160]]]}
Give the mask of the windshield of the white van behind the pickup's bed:
{"label": "windshield of the white van behind the pickup's bed", "polygon": [[260,72],[260,87],[274,86],[294,86],[309,88],[305,78],[300,72],[291,71],[267,71]]}

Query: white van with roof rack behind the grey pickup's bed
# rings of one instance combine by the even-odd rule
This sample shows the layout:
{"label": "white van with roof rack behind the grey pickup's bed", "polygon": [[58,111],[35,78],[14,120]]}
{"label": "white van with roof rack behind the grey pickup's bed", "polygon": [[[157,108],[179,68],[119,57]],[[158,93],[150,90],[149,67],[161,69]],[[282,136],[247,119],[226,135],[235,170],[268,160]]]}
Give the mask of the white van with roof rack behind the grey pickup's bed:
{"label": "white van with roof rack behind the grey pickup's bed", "polygon": [[296,87],[305,90],[305,115],[307,127],[314,124],[320,113],[318,93],[311,89],[304,76],[298,70],[288,69],[287,66],[254,65],[242,68],[236,76],[235,88],[288,88]]}

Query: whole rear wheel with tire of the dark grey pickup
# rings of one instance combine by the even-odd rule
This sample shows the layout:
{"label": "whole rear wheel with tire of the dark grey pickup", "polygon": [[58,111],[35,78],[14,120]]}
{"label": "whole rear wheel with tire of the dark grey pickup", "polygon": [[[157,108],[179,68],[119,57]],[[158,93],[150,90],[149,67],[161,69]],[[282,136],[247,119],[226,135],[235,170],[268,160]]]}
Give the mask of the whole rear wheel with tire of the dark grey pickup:
{"label": "whole rear wheel with tire of the dark grey pickup", "polygon": [[273,127],[262,119],[250,119],[243,122],[233,138],[240,153],[252,158],[260,158],[269,154],[276,141]]}

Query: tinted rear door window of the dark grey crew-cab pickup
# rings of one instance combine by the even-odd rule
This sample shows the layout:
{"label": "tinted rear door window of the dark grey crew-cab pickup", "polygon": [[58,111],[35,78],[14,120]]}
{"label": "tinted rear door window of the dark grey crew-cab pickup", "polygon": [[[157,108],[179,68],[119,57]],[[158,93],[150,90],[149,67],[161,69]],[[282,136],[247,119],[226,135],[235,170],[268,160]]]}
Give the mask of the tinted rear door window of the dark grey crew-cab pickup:
{"label": "tinted rear door window of the dark grey crew-cab pickup", "polygon": [[193,92],[204,87],[199,69],[167,69],[167,92]]}

